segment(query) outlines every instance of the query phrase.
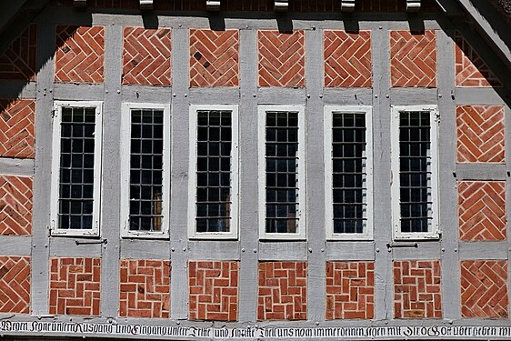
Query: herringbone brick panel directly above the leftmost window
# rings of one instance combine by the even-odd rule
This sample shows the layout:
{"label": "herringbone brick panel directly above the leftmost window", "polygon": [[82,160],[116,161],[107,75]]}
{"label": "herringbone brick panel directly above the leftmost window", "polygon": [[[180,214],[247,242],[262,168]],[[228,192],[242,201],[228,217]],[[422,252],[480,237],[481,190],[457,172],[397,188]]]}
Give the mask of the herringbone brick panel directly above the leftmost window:
{"label": "herringbone brick panel directly above the leftmost window", "polygon": [[55,82],[103,83],[103,26],[56,26]]}

